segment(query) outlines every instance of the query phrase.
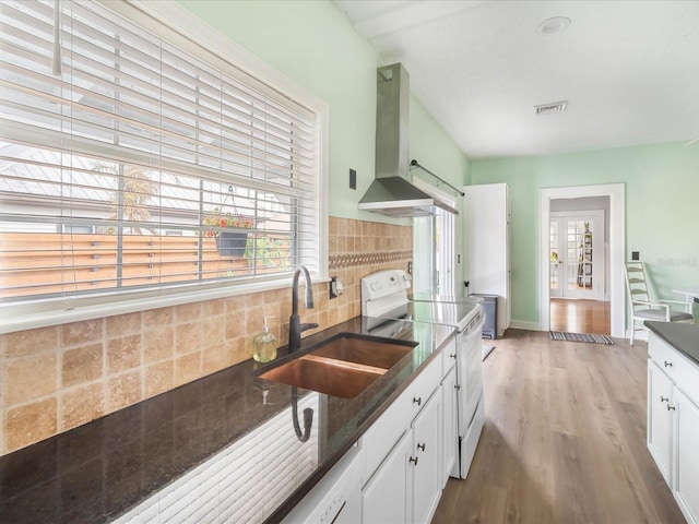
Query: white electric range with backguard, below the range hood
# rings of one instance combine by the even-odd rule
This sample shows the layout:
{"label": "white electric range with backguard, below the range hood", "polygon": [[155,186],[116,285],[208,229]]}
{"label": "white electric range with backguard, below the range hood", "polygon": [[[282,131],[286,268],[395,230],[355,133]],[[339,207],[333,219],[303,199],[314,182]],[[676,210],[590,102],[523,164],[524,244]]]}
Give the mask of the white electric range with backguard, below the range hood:
{"label": "white electric range with backguard, below the range hood", "polygon": [[362,314],[449,325],[457,331],[459,461],[451,476],[466,478],[485,424],[482,300],[430,295],[416,295],[411,299],[407,294],[411,281],[411,275],[402,270],[380,271],[362,278]]}

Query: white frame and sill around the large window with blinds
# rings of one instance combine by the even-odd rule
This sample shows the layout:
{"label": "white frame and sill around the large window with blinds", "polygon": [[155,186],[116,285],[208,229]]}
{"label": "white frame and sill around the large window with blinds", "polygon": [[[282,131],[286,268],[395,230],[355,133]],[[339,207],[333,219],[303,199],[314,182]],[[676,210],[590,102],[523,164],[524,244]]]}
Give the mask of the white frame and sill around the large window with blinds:
{"label": "white frame and sill around the large window with blinds", "polygon": [[[287,78],[281,71],[242,48],[228,36],[185,7],[171,1],[127,0],[112,2],[94,0],[164,40],[226,70],[241,70],[251,79],[288,96],[316,114],[318,126],[317,182],[318,229],[321,241],[316,247],[316,265],[311,271],[313,282],[328,281],[328,177],[329,177],[329,105],[307,88]],[[221,52],[220,50],[225,50]],[[246,281],[214,281],[183,284],[157,289],[115,289],[96,296],[59,297],[42,301],[14,301],[0,305],[0,333],[57,325],[67,322],[92,320],[114,314],[125,314],[168,306],[227,298],[282,289],[291,286],[292,276],[269,278],[261,275]]]}

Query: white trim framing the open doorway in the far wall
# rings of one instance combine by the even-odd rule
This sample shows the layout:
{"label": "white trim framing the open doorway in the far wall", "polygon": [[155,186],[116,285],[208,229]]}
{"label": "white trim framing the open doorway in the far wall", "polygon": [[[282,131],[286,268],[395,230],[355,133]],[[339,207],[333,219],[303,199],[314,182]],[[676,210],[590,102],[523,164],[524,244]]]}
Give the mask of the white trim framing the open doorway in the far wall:
{"label": "white trim framing the open doorway in the far wall", "polygon": [[550,329],[550,291],[548,282],[548,238],[550,201],[585,196],[609,196],[609,300],[612,336],[623,338],[626,326],[624,253],[626,249],[625,186],[606,183],[569,188],[540,189],[540,324],[542,331]]}

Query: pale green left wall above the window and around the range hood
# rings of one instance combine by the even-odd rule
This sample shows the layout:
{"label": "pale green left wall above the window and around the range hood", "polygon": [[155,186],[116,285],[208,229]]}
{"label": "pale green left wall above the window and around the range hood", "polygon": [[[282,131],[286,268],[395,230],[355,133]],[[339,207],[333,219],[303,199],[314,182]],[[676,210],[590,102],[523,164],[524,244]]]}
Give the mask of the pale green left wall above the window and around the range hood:
{"label": "pale green left wall above the window and around the range hood", "polygon": [[[376,68],[383,62],[345,15],[318,0],[180,3],[329,103],[330,214],[395,223],[357,210],[374,179]],[[411,156],[454,186],[464,184],[466,157],[413,97],[410,118]],[[350,168],[357,171],[356,191],[348,189]]]}

